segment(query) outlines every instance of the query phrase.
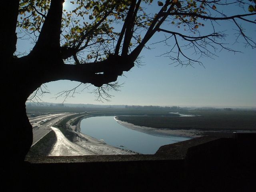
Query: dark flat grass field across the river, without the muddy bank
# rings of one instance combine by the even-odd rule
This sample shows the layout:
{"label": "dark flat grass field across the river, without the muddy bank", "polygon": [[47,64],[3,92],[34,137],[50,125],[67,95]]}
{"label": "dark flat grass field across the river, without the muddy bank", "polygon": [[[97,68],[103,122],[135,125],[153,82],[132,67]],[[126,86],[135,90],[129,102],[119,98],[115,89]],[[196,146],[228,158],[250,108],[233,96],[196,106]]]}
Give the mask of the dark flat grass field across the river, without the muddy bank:
{"label": "dark flat grass field across the river, without the muddy bank", "polygon": [[197,116],[118,116],[118,119],[138,126],[164,129],[256,130],[256,112],[189,111],[186,114]]}

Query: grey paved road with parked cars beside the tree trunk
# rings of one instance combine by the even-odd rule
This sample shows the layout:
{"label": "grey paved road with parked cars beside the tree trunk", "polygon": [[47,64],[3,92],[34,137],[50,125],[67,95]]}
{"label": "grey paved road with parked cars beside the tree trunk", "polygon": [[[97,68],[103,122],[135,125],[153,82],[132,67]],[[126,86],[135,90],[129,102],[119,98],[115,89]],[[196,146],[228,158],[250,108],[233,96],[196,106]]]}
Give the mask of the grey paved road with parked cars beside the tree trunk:
{"label": "grey paved road with parked cars beside the tree trunk", "polygon": [[[71,114],[61,113],[61,114],[50,114],[42,115],[37,117],[28,118],[30,124],[33,126],[33,143],[36,144],[41,138],[43,138],[48,132],[52,130],[51,126],[56,124],[59,120]],[[48,119],[44,124],[40,125],[42,120]]]}

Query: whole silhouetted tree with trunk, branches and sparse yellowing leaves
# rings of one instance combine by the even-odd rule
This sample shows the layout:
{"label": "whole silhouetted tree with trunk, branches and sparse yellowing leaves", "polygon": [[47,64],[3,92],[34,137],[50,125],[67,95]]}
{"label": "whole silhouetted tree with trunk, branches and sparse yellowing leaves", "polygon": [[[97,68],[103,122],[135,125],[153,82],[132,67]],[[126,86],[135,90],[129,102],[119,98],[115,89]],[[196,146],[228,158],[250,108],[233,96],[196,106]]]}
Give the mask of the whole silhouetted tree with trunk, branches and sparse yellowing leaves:
{"label": "whole silhouetted tree with trunk, branches and sparse yellowing leaves", "polygon": [[[201,64],[198,58],[186,54],[187,48],[199,58],[214,56],[218,47],[236,52],[223,43],[225,30],[216,28],[223,20],[236,26],[236,40],[242,38],[246,46],[256,47],[255,37],[247,36],[243,28],[244,24],[256,24],[255,0],[76,0],[70,1],[74,4],[70,12],[63,10],[63,3],[64,0],[5,3],[0,57],[1,72],[5,74],[1,76],[1,100],[6,162],[22,162],[29,150],[32,126],[25,102],[46,82],[74,80],[93,84],[99,94],[104,94],[104,88],[115,88],[111,82],[134,67],[142,49],[148,48],[147,42],[159,33],[166,34],[166,39],[159,42],[170,45],[164,54],[181,65]],[[159,8],[156,14],[146,10],[150,4]],[[240,13],[232,14],[235,6]],[[206,23],[211,25],[210,30],[204,30]],[[32,37],[35,44],[21,56],[15,53],[16,43],[24,34]]]}

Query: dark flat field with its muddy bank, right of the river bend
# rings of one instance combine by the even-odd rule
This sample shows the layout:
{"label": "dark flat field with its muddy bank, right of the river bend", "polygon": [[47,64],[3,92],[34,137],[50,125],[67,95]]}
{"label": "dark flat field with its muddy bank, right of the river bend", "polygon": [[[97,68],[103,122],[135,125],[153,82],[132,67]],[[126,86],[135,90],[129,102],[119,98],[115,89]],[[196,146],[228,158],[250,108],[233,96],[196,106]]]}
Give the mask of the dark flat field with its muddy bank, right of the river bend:
{"label": "dark flat field with its muddy bank, right of the river bend", "polygon": [[[232,137],[233,132],[255,132],[255,112],[198,111],[174,113],[180,116],[117,116],[118,120],[132,126],[142,126],[141,131],[152,130],[182,136]],[[145,127],[143,127],[145,126]],[[150,127],[150,128],[147,128]]]}

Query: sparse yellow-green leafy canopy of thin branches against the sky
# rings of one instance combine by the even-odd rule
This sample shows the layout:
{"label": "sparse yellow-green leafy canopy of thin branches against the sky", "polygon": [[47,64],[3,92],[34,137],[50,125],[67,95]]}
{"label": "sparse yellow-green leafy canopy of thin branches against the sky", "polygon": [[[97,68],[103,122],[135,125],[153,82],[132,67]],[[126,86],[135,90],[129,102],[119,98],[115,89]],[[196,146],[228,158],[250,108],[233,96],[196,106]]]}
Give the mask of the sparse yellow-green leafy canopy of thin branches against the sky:
{"label": "sparse yellow-green leafy canopy of thin branches against the sky", "polygon": [[[226,34],[215,31],[214,22],[218,20],[232,20],[239,31],[238,36],[244,38],[248,46],[256,47],[255,42],[237,22],[243,20],[255,24],[252,15],[256,12],[256,0],[66,0],[65,3],[70,4],[71,9],[63,10],[60,42],[66,49],[75,50],[75,56],[64,56],[64,59],[71,62],[100,61],[108,58],[109,54],[119,54],[120,47],[127,44],[122,38],[120,44],[120,36],[124,36],[121,31],[124,25],[126,32],[131,25],[129,53],[139,45],[145,47],[155,32],[165,32],[174,39],[175,46],[168,54],[178,64],[198,62],[184,54],[182,46],[192,48],[196,54],[204,56],[213,56],[216,46],[234,51],[221,42]],[[50,0],[20,0],[17,27],[22,33],[30,37],[33,35],[36,42],[49,8]],[[234,8],[247,10],[244,15],[249,16],[249,19],[228,16],[228,12],[232,12]],[[126,21],[127,18],[132,24]],[[207,22],[213,28],[213,32],[208,34],[203,29]],[[127,36],[129,35],[124,38]],[[179,46],[180,40],[185,40],[188,44]],[[206,50],[207,47],[209,50]]]}

